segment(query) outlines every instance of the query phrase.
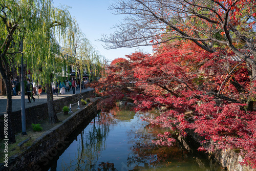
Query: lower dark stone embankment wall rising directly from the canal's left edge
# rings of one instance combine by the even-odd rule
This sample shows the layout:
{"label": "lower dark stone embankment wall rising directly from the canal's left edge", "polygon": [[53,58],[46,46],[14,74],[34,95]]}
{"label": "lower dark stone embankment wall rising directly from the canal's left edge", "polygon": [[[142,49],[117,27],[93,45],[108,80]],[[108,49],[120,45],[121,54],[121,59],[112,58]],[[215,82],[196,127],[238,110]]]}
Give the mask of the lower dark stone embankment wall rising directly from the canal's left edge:
{"label": "lower dark stone embankment wall rising directly from the canal's left edge", "polygon": [[0,164],[0,170],[42,170],[37,163],[47,162],[46,157],[49,155],[56,156],[58,150],[65,146],[65,139],[71,136],[81,123],[97,115],[99,111],[96,104],[97,101],[90,103],[86,108],[73,113],[61,124],[42,134],[23,153],[10,157],[8,167]]}

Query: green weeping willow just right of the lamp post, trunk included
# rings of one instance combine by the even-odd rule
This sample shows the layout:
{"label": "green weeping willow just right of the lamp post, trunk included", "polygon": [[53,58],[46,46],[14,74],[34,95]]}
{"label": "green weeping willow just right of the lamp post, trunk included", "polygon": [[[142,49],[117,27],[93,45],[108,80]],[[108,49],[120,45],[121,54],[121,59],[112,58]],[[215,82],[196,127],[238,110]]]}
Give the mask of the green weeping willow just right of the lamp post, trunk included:
{"label": "green weeping willow just right of the lamp post, trunk included", "polygon": [[[27,32],[31,36],[25,38],[25,43],[27,43],[25,52],[27,65],[31,68],[33,78],[46,86],[49,122],[56,123],[57,116],[53,105],[51,82],[67,62],[60,55],[56,38],[65,36],[68,27],[72,26],[72,18],[67,9],[54,8],[51,1],[42,4],[41,10],[41,17],[38,18],[40,27]],[[30,27],[33,27],[32,23]]]}

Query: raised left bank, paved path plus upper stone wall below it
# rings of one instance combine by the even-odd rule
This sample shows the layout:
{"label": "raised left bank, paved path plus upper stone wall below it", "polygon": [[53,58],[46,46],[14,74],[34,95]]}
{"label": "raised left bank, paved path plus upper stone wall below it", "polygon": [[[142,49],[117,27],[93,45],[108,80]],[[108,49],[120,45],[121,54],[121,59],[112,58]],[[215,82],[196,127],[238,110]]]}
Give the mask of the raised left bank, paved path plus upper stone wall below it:
{"label": "raised left bank, paved path plus upper stone wall below it", "polygon": [[[78,93],[77,91],[76,93]],[[85,100],[86,98],[94,95],[93,89],[82,90],[81,98]],[[20,96],[12,96],[12,106],[20,106],[21,100]],[[58,96],[53,96],[53,105],[56,113],[62,111],[63,106],[70,106],[73,104],[73,107],[77,107],[77,102],[79,100],[80,94],[73,94],[71,91],[66,92]],[[26,101],[26,99],[25,99]],[[6,98],[1,96],[0,104],[6,103]],[[11,115],[11,124],[12,131],[14,134],[22,131],[22,113],[20,107],[15,107]],[[18,110],[17,110],[18,109]],[[3,108],[1,109],[2,113],[0,114],[0,138],[4,139],[4,113]],[[35,99],[35,102],[26,103],[25,105],[25,114],[26,114],[26,125],[27,127],[31,126],[32,123],[37,124],[42,120],[48,119],[48,107],[47,107],[47,95],[43,94],[40,97]]]}

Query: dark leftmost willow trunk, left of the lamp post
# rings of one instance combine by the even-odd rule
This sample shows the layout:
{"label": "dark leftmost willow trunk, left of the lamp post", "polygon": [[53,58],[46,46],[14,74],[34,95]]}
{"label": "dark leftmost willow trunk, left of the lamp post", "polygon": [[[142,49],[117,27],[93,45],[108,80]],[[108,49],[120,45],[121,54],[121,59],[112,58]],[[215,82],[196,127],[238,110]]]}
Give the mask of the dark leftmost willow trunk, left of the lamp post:
{"label": "dark leftmost willow trunk, left of the lamp post", "polygon": [[[15,135],[12,131],[12,119],[11,119],[11,114],[12,114],[12,87],[11,87],[11,81],[8,80],[9,76],[5,75],[3,76],[3,80],[6,86],[6,94],[7,94],[7,105],[6,105],[6,114],[8,115],[8,142],[9,143],[15,143]],[[7,139],[7,137],[4,137],[4,139]]]}

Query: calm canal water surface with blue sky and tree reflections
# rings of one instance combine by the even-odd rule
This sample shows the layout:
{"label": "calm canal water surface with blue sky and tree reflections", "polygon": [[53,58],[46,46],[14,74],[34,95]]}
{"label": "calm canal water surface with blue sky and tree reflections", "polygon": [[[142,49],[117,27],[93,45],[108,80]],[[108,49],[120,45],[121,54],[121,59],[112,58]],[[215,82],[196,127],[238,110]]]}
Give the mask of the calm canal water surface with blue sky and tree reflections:
{"label": "calm canal water surface with blue sky and tree reflections", "polygon": [[115,109],[99,113],[67,139],[44,170],[224,170],[205,153],[184,147],[179,141],[165,147],[152,143],[164,130],[152,127],[143,117]]}

